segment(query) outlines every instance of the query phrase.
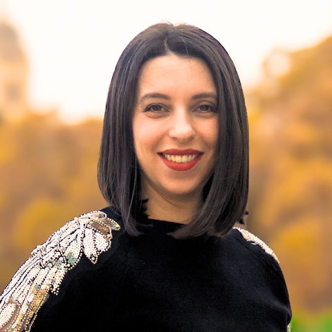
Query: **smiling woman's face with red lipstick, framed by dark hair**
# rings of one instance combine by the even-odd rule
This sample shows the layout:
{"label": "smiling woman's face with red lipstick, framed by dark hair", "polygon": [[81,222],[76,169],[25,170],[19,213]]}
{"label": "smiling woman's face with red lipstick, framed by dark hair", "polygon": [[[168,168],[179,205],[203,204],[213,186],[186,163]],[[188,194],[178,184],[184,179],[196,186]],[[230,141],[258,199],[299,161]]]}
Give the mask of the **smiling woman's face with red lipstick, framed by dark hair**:
{"label": "smiling woman's face with red lipstick, framed by dark hair", "polygon": [[201,197],[212,174],[218,139],[216,86],[194,57],[149,60],[138,77],[133,140],[142,199]]}

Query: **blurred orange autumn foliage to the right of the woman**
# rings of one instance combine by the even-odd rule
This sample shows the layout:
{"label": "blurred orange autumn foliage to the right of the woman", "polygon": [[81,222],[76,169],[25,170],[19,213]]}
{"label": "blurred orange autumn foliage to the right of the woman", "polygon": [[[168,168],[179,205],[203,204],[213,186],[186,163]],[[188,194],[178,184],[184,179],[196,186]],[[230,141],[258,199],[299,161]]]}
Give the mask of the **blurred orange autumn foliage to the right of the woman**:
{"label": "blurred orange autumn foliage to the right of the woman", "polygon": [[[271,55],[273,56],[273,55]],[[332,308],[332,37],[284,53],[247,96],[248,228],[275,250],[293,307]]]}

